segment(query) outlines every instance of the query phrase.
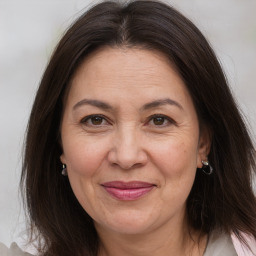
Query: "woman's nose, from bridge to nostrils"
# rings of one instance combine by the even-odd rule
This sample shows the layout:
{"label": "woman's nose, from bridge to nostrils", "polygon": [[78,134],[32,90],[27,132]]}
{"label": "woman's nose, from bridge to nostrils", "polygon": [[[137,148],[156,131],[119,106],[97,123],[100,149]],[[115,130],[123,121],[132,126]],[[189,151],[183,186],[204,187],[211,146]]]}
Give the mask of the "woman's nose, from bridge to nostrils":
{"label": "woman's nose, from bridge to nostrils", "polygon": [[112,141],[113,145],[108,154],[108,161],[121,169],[132,169],[144,166],[148,155],[141,143],[141,137],[134,128],[117,132]]}

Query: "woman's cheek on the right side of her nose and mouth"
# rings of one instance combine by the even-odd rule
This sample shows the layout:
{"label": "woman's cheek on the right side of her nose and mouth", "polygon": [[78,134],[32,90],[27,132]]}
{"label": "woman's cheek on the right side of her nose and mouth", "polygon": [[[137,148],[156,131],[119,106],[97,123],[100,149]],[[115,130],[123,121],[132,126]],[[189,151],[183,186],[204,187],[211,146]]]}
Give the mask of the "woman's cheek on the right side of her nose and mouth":
{"label": "woman's cheek on the right side of her nose and mouth", "polygon": [[190,143],[165,143],[154,149],[154,164],[162,176],[159,204],[166,205],[163,214],[185,207],[194,183],[197,148]]}

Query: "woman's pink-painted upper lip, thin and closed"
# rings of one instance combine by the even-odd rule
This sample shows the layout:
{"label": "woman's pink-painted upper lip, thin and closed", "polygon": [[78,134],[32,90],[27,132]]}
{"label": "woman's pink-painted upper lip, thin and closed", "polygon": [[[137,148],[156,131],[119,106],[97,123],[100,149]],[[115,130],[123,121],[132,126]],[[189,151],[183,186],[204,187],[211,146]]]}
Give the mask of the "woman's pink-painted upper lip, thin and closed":
{"label": "woman's pink-painted upper lip, thin and closed", "polygon": [[153,183],[144,181],[109,181],[101,184],[103,187],[118,188],[118,189],[136,189],[136,188],[148,188],[156,186]]}

